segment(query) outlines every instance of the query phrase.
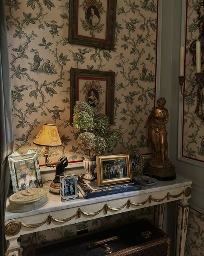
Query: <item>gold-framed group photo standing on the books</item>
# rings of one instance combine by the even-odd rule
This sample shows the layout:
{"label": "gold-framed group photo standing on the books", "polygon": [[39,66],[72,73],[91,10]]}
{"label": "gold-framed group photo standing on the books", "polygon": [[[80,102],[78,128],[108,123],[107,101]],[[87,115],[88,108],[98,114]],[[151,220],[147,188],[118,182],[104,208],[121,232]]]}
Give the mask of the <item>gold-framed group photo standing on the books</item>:
{"label": "gold-framed group photo standing on the books", "polygon": [[98,186],[131,181],[130,154],[96,156],[96,170]]}

